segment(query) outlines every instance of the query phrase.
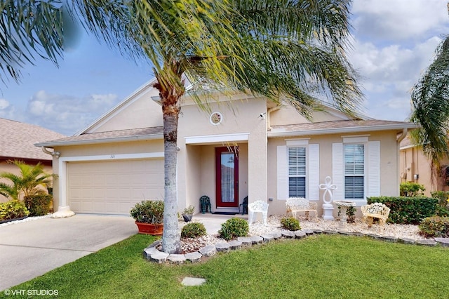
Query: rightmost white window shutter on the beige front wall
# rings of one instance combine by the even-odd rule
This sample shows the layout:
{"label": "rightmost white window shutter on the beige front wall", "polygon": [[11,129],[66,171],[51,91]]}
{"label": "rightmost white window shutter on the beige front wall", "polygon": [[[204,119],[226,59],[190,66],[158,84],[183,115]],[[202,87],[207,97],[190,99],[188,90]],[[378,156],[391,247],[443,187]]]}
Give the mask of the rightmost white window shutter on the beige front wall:
{"label": "rightmost white window shutter on the beige front wall", "polygon": [[380,196],[380,141],[368,142],[367,182],[366,197]]}

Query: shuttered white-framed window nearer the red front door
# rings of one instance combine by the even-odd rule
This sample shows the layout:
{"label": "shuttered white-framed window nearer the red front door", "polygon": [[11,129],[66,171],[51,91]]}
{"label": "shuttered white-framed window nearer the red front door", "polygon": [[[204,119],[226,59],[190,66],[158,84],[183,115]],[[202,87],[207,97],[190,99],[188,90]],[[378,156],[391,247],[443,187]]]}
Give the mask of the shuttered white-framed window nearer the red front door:
{"label": "shuttered white-framed window nearer the red front door", "polygon": [[288,147],[288,197],[306,197],[306,148]]}

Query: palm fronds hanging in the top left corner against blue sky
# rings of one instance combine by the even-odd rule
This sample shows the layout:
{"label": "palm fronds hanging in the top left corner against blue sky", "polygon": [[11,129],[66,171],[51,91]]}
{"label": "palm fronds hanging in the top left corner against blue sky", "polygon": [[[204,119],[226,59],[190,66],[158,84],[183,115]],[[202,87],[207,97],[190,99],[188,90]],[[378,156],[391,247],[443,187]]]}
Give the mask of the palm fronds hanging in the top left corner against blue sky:
{"label": "palm fronds hanging in the top left corner against blue sky", "polygon": [[19,81],[20,69],[36,57],[57,64],[63,49],[62,1],[8,0],[0,8],[1,81]]}

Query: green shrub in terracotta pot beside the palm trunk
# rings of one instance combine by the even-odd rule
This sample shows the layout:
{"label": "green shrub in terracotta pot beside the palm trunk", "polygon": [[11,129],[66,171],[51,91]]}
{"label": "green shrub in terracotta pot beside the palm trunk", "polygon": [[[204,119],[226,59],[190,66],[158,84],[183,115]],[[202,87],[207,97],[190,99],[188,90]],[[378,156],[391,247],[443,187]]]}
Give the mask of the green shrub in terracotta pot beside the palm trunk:
{"label": "green shrub in terracotta pot beside the palm trunk", "polygon": [[163,201],[144,200],[130,210],[140,234],[161,235],[163,232]]}

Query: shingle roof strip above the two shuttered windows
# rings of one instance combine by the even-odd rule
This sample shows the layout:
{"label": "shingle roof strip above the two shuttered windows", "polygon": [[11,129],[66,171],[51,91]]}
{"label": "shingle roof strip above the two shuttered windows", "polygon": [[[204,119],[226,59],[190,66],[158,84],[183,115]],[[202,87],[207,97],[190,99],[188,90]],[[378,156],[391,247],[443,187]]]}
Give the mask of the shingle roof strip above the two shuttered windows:
{"label": "shingle roof strip above the two shuttered windows", "polygon": [[416,124],[403,121],[382,121],[377,119],[323,121],[306,124],[291,124],[272,126],[269,137],[288,135],[319,135],[329,133],[356,133],[367,131],[402,130],[403,128],[417,128]]}

